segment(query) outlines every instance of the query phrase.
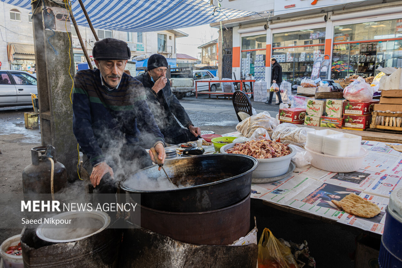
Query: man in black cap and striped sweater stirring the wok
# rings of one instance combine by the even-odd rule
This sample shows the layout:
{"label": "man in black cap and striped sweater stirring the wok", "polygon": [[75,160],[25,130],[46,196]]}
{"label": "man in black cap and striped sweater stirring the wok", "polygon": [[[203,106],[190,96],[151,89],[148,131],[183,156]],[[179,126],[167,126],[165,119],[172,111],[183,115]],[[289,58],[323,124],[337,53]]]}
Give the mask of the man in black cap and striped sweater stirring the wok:
{"label": "man in black cap and striped sweater stirring the wok", "polygon": [[92,55],[98,69],[74,76],[73,132],[92,185],[99,186],[100,193],[113,194],[117,172],[124,175],[152,165],[140,146],[138,127],[147,132],[162,162],[164,138],[148,108],[144,87],[124,73],[131,56],[127,43],[105,38],[95,43]]}

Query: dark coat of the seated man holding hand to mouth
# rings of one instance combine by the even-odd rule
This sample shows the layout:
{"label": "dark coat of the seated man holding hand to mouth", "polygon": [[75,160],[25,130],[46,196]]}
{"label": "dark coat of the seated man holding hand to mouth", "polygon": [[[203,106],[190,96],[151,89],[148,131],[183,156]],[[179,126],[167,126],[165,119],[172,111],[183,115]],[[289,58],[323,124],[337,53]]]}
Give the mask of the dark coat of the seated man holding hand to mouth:
{"label": "dark coat of the seated man holding hand to mouth", "polygon": [[144,85],[148,106],[154,114],[156,124],[158,124],[162,133],[167,130],[171,131],[172,128],[181,128],[174,116],[184,127],[187,128],[191,122],[189,115],[187,115],[187,112],[183,106],[181,106],[176,96],[173,95],[170,89],[169,79],[166,82],[165,87],[162,89],[164,97],[163,103],[160,103],[160,100],[155,97],[153,91],[151,91],[154,82],[152,82],[148,72],[135,76],[135,79],[139,80],[139,82]]}

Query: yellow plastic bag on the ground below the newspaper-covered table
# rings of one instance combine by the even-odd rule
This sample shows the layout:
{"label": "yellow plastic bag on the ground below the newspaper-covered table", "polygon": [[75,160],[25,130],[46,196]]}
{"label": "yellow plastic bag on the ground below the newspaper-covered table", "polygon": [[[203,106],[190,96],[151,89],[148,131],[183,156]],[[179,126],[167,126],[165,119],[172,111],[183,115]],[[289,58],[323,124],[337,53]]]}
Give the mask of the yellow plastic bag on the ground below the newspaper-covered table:
{"label": "yellow plastic bag on the ground below the newspaper-covered table", "polygon": [[298,268],[290,248],[265,228],[258,242],[258,268]]}

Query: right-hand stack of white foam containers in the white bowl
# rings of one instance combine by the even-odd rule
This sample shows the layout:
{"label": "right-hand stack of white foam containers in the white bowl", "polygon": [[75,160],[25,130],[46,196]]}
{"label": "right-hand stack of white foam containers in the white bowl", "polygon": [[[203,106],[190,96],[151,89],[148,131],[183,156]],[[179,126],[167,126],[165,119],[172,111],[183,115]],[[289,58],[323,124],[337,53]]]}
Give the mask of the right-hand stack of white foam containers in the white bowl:
{"label": "right-hand stack of white foam containers in the white bowl", "polygon": [[341,133],[324,136],[322,139],[322,152],[325,155],[338,157],[351,157],[359,155],[361,136]]}

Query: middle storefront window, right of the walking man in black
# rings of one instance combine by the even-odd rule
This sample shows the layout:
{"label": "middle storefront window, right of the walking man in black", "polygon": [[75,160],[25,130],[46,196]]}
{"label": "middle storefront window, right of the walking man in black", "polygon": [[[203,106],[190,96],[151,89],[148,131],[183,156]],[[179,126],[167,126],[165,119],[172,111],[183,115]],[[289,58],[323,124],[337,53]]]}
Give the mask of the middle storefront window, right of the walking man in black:
{"label": "middle storefront window, right of the walking man in black", "polygon": [[272,57],[282,66],[282,80],[300,85],[311,77],[314,60],[324,56],[325,28],[274,33]]}

